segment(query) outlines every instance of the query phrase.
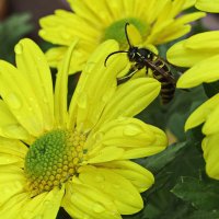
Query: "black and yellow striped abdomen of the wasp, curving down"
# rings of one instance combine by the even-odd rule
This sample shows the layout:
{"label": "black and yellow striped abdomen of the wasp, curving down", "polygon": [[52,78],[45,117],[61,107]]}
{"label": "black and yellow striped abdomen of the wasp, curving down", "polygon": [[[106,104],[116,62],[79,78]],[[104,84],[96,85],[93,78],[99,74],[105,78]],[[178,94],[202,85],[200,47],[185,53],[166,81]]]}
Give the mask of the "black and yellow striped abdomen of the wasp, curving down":
{"label": "black and yellow striped abdomen of the wasp, curving down", "polygon": [[172,80],[173,77],[170,69],[165,62],[160,59],[155,59],[150,69],[152,70],[153,78],[161,82],[160,95],[162,104],[169,103],[173,99],[175,92],[175,83]]}

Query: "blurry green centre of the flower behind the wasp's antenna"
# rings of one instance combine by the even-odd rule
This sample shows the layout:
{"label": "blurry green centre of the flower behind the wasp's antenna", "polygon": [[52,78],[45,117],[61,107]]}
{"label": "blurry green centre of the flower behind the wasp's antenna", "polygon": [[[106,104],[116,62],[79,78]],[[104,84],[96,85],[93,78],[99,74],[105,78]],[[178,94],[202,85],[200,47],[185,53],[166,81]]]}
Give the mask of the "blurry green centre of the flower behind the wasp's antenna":
{"label": "blurry green centre of the flower behind the wasp's antenna", "polygon": [[147,23],[145,23],[136,18],[127,18],[127,19],[123,19],[123,20],[119,20],[119,21],[111,24],[105,30],[102,41],[116,39],[119,43],[119,45],[122,46],[122,48],[126,48],[128,45],[126,35],[125,35],[125,24],[126,23],[132,24],[139,31],[139,33],[141,34],[141,36],[143,38],[146,38],[146,36],[148,35],[148,33],[150,31],[150,25],[147,25]]}

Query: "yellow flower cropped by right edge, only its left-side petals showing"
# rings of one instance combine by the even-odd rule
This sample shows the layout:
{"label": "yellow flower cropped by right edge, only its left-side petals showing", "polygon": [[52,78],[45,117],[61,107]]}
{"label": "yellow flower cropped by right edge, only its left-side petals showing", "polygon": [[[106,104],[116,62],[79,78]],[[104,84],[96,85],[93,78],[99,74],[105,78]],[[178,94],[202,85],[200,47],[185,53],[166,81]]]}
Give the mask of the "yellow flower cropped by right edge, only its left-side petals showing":
{"label": "yellow flower cropped by right edge, only its left-side petals showing", "polygon": [[[201,1],[204,2],[204,1]],[[210,2],[210,1],[209,1]],[[219,31],[200,33],[170,48],[168,59],[182,67],[192,67],[177,81],[177,88],[193,88],[219,80]],[[219,180],[219,94],[200,105],[188,117],[185,130],[203,125],[203,151],[206,172]]]}

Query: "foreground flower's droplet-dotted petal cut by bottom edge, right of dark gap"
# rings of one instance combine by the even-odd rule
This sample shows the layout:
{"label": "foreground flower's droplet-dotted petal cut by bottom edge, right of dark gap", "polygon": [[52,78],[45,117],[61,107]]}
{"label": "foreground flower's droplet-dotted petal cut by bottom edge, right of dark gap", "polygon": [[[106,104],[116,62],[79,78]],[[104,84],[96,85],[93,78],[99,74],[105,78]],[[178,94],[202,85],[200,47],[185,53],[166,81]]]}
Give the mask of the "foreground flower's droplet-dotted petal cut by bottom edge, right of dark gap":
{"label": "foreground flower's droplet-dotted petal cut by bottom edge, right of dark gap", "polygon": [[68,183],[62,206],[72,218],[122,219],[113,200],[88,183]]}

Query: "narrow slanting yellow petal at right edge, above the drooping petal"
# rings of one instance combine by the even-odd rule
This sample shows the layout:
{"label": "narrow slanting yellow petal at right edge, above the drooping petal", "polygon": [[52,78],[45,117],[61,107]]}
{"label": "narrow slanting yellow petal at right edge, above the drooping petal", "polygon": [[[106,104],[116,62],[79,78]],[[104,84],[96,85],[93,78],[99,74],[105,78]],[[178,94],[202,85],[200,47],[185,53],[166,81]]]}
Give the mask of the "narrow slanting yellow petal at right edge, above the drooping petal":
{"label": "narrow slanting yellow petal at right edge, above the drooping petal", "polygon": [[191,116],[186,120],[185,130],[194,128],[204,123],[217,105],[219,105],[219,94],[216,94],[215,96],[206,101],[203,105],[200,105],[196,111],[191,114]]}

